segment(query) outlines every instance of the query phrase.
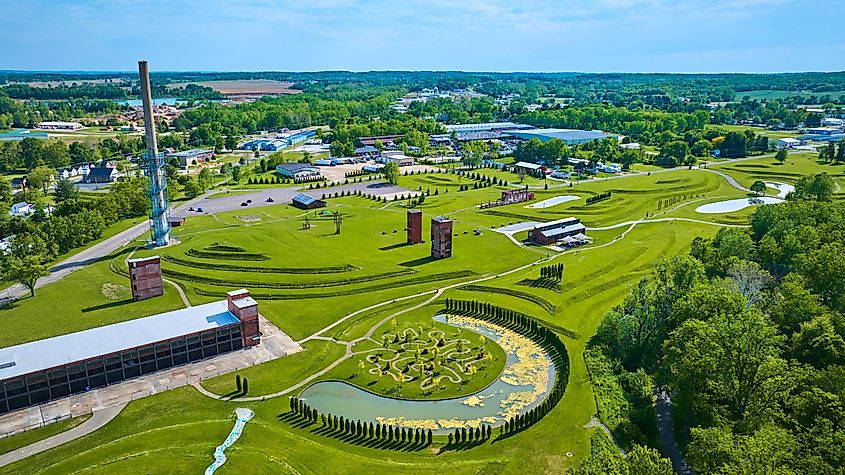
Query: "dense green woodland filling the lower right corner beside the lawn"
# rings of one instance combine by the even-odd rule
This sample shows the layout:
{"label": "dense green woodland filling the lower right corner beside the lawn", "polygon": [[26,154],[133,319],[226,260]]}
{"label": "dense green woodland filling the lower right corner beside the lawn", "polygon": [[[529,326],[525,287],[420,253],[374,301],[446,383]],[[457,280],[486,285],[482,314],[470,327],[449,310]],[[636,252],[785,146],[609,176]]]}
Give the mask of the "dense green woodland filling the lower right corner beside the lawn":
{"label": "dense green woodland filling the lower right corner beside the lawn", "polygon": [[[636,406],[629,433],[653,433],[653,416],[633,414],[648,414],[662,386],[696,473],[838,473],[845,206],[816,198],[800,193],[761,206],[750,230],[696,238],[604,316],[590,351],[615,368],[627,398],[617,404]],[[634,397],[636,374],[650,397]]]}

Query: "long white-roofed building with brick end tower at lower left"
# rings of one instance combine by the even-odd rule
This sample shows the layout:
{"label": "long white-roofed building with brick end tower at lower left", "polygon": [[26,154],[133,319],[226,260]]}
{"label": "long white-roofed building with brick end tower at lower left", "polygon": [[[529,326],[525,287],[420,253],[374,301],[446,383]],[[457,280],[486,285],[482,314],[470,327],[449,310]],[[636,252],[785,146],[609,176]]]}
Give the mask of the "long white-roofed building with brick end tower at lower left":
{"label": "long white-roofed building with brick end tower at lower left", "polygon": [[0,349],[0,413],[257,345],[258,303],[226,300]]}

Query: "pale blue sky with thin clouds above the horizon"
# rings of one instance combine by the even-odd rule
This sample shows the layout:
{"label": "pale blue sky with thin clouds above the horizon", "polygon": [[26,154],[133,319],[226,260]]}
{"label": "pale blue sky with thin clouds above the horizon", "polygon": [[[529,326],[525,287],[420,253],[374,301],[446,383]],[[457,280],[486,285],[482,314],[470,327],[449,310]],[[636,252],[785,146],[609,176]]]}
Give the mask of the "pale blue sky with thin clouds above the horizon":
{"label": "pale blue sky with thin clouds above the horizon", "polygon": [[0,69],[845,69],[843,0],[0,0]]}

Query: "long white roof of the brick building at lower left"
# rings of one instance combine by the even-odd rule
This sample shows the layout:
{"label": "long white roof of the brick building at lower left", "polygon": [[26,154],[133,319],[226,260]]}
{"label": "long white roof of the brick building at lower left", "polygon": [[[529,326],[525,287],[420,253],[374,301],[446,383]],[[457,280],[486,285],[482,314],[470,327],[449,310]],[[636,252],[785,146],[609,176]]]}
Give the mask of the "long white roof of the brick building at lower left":
{"label": "long white roof of the brick building at lower left", "polygon": [[237,322],[220,300],[0,348],[0,381]]}

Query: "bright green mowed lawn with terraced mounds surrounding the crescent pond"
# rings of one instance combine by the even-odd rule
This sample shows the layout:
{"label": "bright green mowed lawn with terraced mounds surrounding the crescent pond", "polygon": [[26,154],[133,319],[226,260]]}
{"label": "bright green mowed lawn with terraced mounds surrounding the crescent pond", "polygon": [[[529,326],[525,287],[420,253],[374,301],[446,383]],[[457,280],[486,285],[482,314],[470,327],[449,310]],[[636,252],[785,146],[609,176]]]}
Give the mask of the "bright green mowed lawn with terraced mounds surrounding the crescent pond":
{"label": "bright green mowed lawn with terraced mounds surrounding the crescent pond", "polygon": [[[726,163],[724,167],[751,162]],[[740,171],[723,171],[744,179]],[[712,236],[720,224],[746,224],[751,210],[731,215],[694,212],[700,203],[745,194],[714,173],[676,170],[538,191],[537,201],[569,194],[579,197],[551,208],[514,204],[479,210],[478,203],[495,199],[503,188],[459,192],[462,183],[472,182],[467,178],[459,182],[449,174],[400,179],[400,184],[412,190],[431,188],[431,195],[420,206],[426,241],[431,217],[446,215],[455,221],[457,236],[450,259],[429,259],[428,244],[404,244],[403,203],[376,203],[360,197],[329,200],[328,209],[343,216],[339,235],[328,216],[277,205],[250,211],[261,218],[252,223],[238,218],[245,214],[240,210],[191,218],[179,230],[181,243],[156,253],[167,256],[164,269],[170,273],[168,278],[186,290],[192,303],[219,299],[227,290],[246,287],[257,297],[262,314],[295,340],[319,334],[351,341],[371,329],[379,335],[389,331],[393,318],[400,326],[418,325],[440,311],[445,298],[487,301],[564,327],[570,331],[569,337],[563,337],[570,360],[569,383],[560,403],[535,426],[505,439],[497,440],[494,435],[493,441],[470,450],[438,453],[444,441],[436,438],[433,446],[419,451],[382,451],[320,436],[314,427],[293,427],[280,421],[288,409],[286,396],[228,402],[186,387],[134,401],[105,428],[3,467],[0,473],[199,472],[211,463],[214,447],[231,429],[237,407],[252,408],[256,417],[227,450],[229,461],[219,472],[223,474],[560,473],[572,467],[589,453],[595,430],[583,427],[596,407],[582,354],[601,316],[622,300],[656,259],[687,252],[696,236]],[[586,204],[586,197],[605,191],[611,191],[610,199]],[[670,199],[677,202],[657,209],[658,202]],[[617,226],[647,214],[645,222]],[[309,229],[303,227],[306,216],[313,225]],[[593,245],[563,254],[520,247],[494,230],[510,223],[568,216],[580,217],[588,227],[606,229],[588,232]],[[656,220],[664,218],[695,221]],[[475,235],[476,230],[480,235]],[[523,239],[525,233],[516,237]],[[250,259],[243,259],[244,255]],[[102,284],[125,284],[125,278],[115,272],[124,258],[125,253],[116,254],[77,271],[41,289],[35,299],[6,311],[11,318],[0,319],[4,346],[180,305],[173,289],[167,288],[164,298],[138,302],[137,307],[135,303],[104,307],[96,310],[102,312],[97,318],[89,318],[95,312],[83,312],[82,308],[68,312],[60,306],[63,300],[85,302],[82,307],[108,303],[103,302],[107,299],[100,292]],[[531,285],[539,276],[539,267],[559,262],[565,265],[560,289]],[[300,273],[302,269],[309,271]],[[479,279],[486,280],[475,282],[477,287],[470,290],[460,288]],[[450,288],[420,306],[445,287]],[[402,297],[410,298],[394,302]],[[382,305],[346,318],[376,304]],[[33,317],[35,313],[43,315]],[[31,335],[27,323],[31,318],[44,326],[36,336]],[[338,325],[322,331],[339,320]],[[343,357],[345,351],[342,344],[325,340],[310,340],[304,347],[305,351],[296,355],[240,371],[249,378],[249,396],[290,388]],[[356,345],[353,351],[367,348],[372,344]],[[316,380],[350,378],[359,358],[343,361]],[[217,394],[231,393],[234,375],[204,381],[203,386]]]}

